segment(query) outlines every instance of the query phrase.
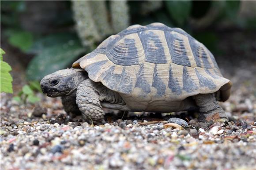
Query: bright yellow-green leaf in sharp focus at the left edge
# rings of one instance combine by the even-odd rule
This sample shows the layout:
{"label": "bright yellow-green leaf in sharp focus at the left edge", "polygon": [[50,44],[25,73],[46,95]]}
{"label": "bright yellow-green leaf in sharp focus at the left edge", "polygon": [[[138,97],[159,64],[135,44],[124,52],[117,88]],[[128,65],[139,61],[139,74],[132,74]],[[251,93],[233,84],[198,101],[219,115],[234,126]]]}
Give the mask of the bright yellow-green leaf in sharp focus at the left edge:
{"label": "bright yellow-green leaf in sharp focus at the left edge", "polygon": [[0,51],[0,92],[13,93],[12,91],[12,77],[9,73],[11,66],[3,61],[3,54],[5,52],[1,49]]}

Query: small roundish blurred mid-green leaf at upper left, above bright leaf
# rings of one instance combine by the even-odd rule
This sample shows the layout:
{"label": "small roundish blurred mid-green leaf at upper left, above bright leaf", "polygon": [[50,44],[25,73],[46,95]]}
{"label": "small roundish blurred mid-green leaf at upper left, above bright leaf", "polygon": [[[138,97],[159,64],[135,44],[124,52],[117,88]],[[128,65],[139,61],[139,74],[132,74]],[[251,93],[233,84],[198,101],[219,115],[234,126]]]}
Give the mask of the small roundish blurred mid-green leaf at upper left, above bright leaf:
{"label": "small roundish blurred mid-green leaf at upper left, above bright leaf", "polygon": [[9,36],[8,42],[21,51],[26,52],[33,43],[33,36],[26,31],[15,31]]}

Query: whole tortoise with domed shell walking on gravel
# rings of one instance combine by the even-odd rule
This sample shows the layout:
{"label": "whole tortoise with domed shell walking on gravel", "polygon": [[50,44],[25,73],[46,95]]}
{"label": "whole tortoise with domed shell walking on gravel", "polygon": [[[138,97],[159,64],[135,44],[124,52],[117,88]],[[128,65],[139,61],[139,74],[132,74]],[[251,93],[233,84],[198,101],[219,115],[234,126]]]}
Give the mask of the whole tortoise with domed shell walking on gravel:
{"label": "whole tortoise with domed shell walking on gravel", "polygon": [[40,84],[47,96],[62,96],[67,113],[95,123],[104,123],[102,108],[198,110],[200,121],[227,121],[218,101],[229,98],[232,86],[202,43],[162,23],[129,26]]}

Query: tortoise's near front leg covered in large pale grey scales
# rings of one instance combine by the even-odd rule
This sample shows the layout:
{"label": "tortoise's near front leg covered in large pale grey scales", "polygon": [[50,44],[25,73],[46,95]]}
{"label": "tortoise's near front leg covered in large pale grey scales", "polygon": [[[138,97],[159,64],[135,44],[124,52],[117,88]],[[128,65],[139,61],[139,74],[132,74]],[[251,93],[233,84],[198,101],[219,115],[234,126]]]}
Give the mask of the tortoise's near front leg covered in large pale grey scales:
{"label": "tortoise's near front leg covered in large pale grey scales", "polygon": [[87,79],[81,82],[76,92],[76,104],[82,112],[84,121],[98,124],[105,123],[102,106],[100,105],[97,86]]}

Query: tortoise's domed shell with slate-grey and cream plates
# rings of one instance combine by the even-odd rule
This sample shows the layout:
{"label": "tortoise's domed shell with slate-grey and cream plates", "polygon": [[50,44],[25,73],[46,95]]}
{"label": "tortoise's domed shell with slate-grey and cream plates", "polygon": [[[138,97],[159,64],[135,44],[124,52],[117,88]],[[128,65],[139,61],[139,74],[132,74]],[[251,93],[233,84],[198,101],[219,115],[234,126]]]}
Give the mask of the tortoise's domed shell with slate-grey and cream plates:
{"label": "tortoise's domed shell with slate-grey and cream plates", "polygon": [[134,101],[181,101],[216,91],[220,101],[230,96],[231,82],[211,52],[184,30],[162,23],[132,25],[109,36],[72,67]]}

